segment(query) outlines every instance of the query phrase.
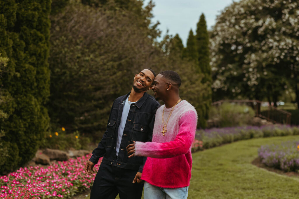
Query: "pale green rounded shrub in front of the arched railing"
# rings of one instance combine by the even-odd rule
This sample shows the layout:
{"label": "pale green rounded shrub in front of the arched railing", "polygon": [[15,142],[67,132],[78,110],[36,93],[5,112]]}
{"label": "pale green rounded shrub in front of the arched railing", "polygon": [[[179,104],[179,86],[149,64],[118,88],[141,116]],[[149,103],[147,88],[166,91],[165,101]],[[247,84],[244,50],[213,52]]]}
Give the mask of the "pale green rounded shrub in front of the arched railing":
{"label": "pale green rounded shrub in front of the arched railing", "polygon": [[254,110],[246,105],[223,103],[219,107],[212,107],[209,118],[217,118],[219,127],[235,127],[250,125],[254,117]]}

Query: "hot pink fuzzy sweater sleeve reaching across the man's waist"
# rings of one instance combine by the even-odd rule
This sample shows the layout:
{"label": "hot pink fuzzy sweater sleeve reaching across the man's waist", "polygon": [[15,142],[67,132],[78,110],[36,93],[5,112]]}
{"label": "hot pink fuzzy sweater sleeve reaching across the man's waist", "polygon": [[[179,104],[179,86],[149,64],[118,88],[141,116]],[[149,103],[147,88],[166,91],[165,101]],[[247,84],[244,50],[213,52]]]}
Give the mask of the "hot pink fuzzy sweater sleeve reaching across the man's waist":
{"label": "hot pink fuzzy sweater sleeve reaching across the man's waist", "polygon": [[197,125],[197,115],[194,111],[188,111],[179,121],[179,133],[170,142],[136,142],[135,155],[151,158],[172,158],[186,154],[194,140]]}

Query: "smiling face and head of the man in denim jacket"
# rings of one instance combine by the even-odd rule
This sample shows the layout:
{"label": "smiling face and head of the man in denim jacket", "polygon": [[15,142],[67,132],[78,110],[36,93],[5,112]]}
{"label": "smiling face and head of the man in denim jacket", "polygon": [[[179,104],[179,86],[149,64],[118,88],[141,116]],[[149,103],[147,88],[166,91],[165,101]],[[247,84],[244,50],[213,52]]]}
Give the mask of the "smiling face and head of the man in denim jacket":
{"label": "smiling face and head of the man in denim jacket", "polygon": [[148,69],[144,69],[135,75],[133,82],[133,89],[136,92],[146,92],[152,87],[152,81],[154,81],[154,74]]}

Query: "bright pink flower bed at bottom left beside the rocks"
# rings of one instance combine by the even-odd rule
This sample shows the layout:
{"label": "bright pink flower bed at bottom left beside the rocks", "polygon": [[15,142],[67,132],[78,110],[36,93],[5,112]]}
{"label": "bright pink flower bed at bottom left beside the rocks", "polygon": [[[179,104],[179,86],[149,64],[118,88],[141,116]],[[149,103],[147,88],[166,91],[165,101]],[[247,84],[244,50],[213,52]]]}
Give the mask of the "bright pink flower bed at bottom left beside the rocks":
{"label": "bright pink flower bed at bottom left beside the rocks", "polygon": [[[20,168],[0,177],[0,198],[71,198],[92,186],[95,175],[86,175],[84,166],[91,154],[53,163],[47,168]],[[98,170],[99,164],[94,166]]]}

